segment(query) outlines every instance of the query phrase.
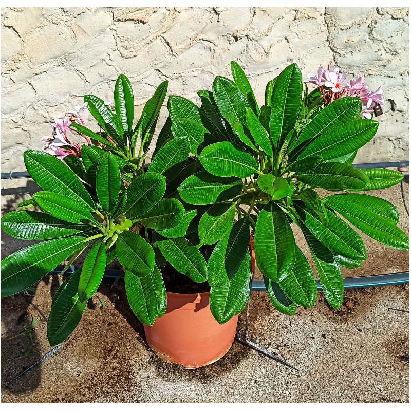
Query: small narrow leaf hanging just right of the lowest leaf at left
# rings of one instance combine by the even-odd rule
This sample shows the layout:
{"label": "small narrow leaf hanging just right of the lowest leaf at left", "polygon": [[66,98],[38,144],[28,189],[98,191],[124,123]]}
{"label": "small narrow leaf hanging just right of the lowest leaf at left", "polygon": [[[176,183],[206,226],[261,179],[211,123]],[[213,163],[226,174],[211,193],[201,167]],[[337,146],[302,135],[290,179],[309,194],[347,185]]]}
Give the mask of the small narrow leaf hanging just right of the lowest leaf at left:
{"label": "small narrow leaf hanging just right of the lowest leaf at left", "polygon": [[103,279],[106,263],[106,245],[101,241],[90,249],[84,259],[78,287],[81,303],[84,303],[96,293]]}

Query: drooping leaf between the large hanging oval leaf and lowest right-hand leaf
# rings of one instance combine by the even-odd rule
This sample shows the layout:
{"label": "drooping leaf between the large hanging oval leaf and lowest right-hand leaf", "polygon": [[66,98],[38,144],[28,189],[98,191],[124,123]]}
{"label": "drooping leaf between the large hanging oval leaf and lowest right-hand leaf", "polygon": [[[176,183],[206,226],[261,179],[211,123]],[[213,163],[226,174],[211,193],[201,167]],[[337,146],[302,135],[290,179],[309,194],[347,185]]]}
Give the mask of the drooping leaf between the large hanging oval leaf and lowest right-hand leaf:
{"label": "drooping leaf between the large hanging oval leaf and lowest right-hand leaf", "polygon": [[317,298],[317,284],[307,258],[296,247],[293,269],[278,279],[278,284],[287,297],[303,307],[312,307]]}

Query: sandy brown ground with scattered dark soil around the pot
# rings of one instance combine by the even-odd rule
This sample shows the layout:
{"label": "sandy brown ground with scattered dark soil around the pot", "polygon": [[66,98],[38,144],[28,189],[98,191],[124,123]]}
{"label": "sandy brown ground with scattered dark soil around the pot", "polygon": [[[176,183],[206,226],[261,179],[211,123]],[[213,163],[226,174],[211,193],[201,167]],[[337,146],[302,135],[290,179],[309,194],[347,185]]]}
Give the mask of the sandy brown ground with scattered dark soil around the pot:
{"label": "sandy brown ground with scattered dark soil around the pot", "polygon": [[[400,186],[372,195],[398,207],[399,226],[408,232]],[[299,233],[297,239],[306,252]],[[345,276],[408,271],[407,251],[364,239],[369,260]],[[3,233],[2,257],[22,244]],[[29,301],[47,315],[59,283],[46,277]],[[251,339],[300,371],[241,343],[245,312],[236,341],[217,363],[196,370],[166,364],[148,348],[124,283],[105,279],[97,295],[105,307],[95,298],[61,349],[7,387],[51,347],[45,321],[22,295],[2,300],[2,402],[409,402],[409,314],[390,309],[409,309],[408,285],[347,290],[338,311],[320,293],[314,308],[300,307],[293,317],[254,292]],[[18,336],[31,315],[39,328]]]}

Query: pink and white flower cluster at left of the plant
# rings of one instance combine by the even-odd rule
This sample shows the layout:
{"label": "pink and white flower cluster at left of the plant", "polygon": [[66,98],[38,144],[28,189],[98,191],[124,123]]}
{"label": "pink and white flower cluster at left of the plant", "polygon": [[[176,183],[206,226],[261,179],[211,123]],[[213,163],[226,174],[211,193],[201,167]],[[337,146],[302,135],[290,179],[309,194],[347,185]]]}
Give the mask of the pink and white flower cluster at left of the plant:
{"label": "pink and white flower cluster at left of the plant", "polygon": [[[43,150],[61,160],[69,155],[74,155],[77,157],[81,156],[81,147],[72,143],[67,137],[69,131],[74,132],[74,129],[70,128],[70,124],[77,123],[85,125],[84,122],[84,110],[86,109],[88,103],[82,106],[75,106],[74,110],[68,111],[67,115],[62,119],[55,119],[52,124],[52,133],[50,136],[44,136],[42,141],[45,143]],[[80,134],[77,133],[76,134]],[[91,141],[87,136],[80,134],[87,141],[88,145],[91,145]]]}

